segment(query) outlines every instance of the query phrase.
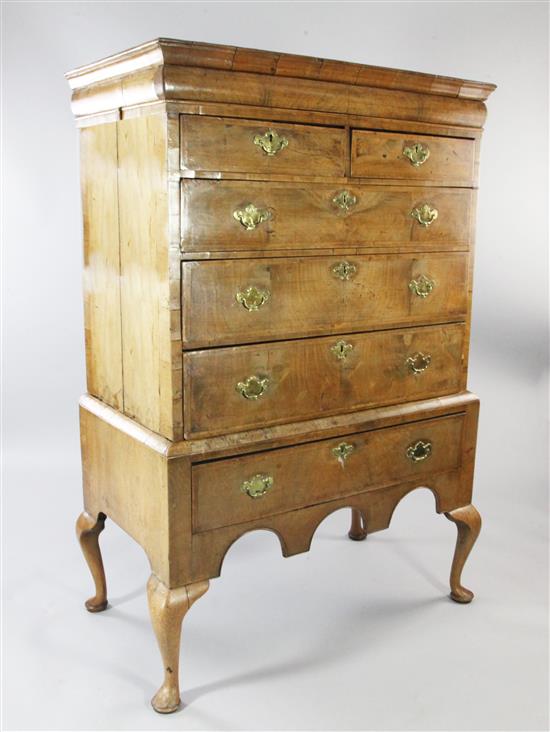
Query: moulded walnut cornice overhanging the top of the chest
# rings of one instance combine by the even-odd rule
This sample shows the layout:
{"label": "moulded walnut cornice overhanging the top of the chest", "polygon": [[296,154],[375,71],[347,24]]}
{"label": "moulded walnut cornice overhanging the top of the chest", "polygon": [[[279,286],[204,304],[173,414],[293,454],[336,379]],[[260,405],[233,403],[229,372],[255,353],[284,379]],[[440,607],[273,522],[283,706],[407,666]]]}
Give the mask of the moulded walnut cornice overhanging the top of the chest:
{"label": "moulded walnut cornice overhanging the top of the chest", "polygon": [[109,121],[135,105],[192,101],[333,113],[340,123],[346,115],[360,115],[480,128],[484,101],[496,88],[434,74],[168,38],[82,66],[67,79],[74,114],[110,113]]}

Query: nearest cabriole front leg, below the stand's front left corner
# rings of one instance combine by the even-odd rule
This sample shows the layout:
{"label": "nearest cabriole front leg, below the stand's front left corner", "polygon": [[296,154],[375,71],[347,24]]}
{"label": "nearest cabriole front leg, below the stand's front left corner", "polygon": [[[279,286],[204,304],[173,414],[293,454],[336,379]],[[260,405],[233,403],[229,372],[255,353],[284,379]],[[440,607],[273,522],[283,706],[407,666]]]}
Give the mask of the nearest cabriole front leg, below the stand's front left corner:
{"label": "nearest cabriole front leg, below the stand's front left corner", "polygon": [[204,595],[208,580],[171,590],[154,574],[147,583],[151,623],[164,663],[164,681],[151,699],[156,712],[169,714],[180,705],[179,658],[181,624],[191,605]]}

